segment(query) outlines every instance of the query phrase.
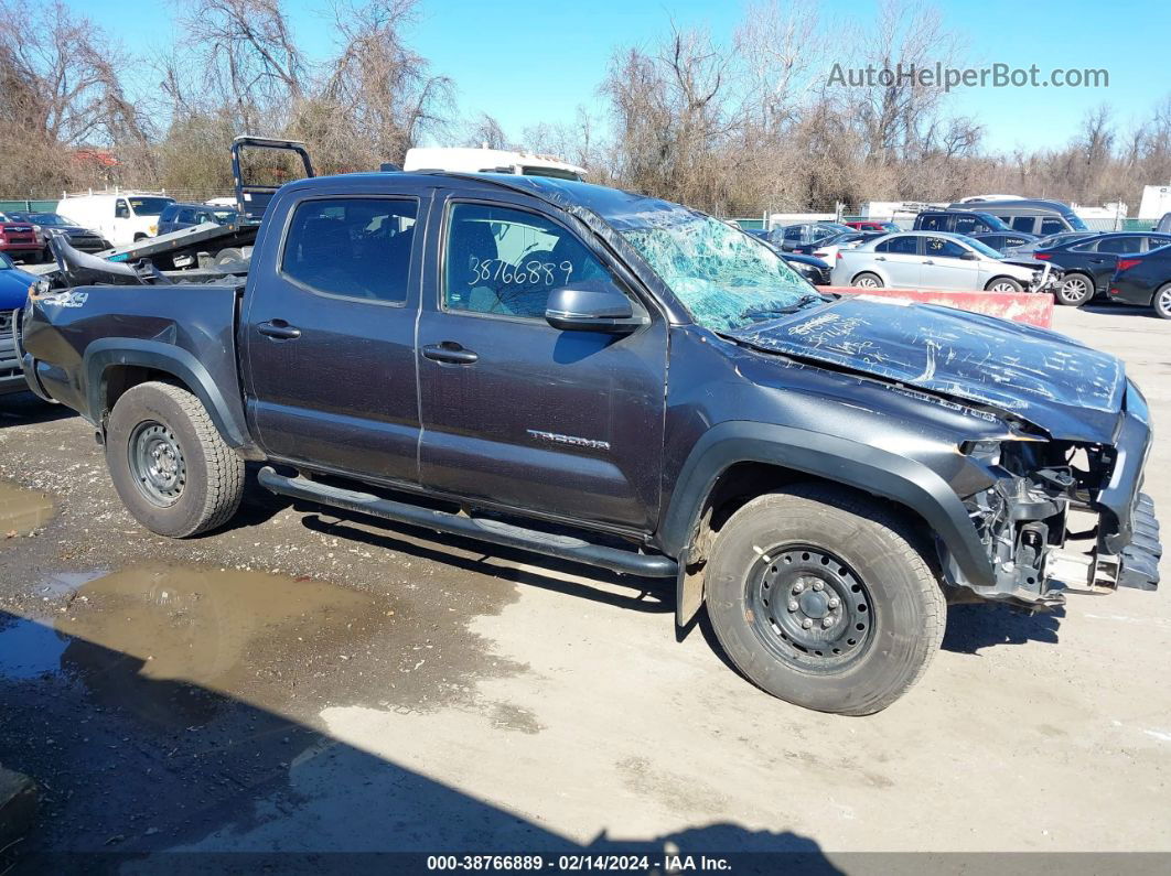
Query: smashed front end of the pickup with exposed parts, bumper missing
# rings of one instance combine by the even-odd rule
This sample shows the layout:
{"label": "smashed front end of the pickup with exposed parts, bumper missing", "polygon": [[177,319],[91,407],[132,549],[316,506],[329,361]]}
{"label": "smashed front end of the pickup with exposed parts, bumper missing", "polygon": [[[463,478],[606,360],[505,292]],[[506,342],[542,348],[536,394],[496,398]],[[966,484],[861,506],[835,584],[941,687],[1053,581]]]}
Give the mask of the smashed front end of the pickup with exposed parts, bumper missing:
{"label": "smashed front end of the pickup with exposed parts, bumper missing", "polygon": [[980,599],[1032,609],[1064,591],[1158,586],[1159,524],[1141,491],[1150,450],[1146,403],[1131,385],[1112,443],[977,441],[963,448],[993,474],[965,506],[992,561],[995,584],[951,582]]}

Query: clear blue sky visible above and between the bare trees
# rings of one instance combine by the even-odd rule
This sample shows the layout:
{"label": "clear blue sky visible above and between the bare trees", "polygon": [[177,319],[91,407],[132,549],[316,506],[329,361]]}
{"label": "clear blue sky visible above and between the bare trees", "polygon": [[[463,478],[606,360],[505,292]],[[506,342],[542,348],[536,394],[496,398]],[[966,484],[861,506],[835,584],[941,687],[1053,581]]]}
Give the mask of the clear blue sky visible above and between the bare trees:
{"label": "clear blue sky visible above and between the bare trees", "polygon": [[[176,6],[166,0],[68,0],[131,50],[165,44]],[[823,18],[863,26],[876,16],[875,0],[824,0]],[[945,23],[967,43],[970,65],[1004,62],[1053,68],[1105,68],[1109,88],[966,89],[953,92],[951,109],[975,116],[986,127],[987,149],[1060,145],[1086,110],[1101,103],[1129,125],[1171,92],[1166,76],[1171,4],[1103,4],[1101,0],[984,0],[941,2]],[[311,55],[329,51],[323,2],[292,0],[288,8]],[[411,44],[436,73],[451,76],[463,116],[495,116],[513,138],[540,122],[570,120],[575,108],[597,108],[597,85],[611,51],[653,44],[673,19],[682,27],[705,26],[727,39],[744,14],[740,2],[718,0],[589,0],[583,4],[466,2],[420,5]],[[163,37],[163,39],[160,39]],[[837,58],[828,58],[829,62]],[[843,62],[848,58],[841,58]]]}

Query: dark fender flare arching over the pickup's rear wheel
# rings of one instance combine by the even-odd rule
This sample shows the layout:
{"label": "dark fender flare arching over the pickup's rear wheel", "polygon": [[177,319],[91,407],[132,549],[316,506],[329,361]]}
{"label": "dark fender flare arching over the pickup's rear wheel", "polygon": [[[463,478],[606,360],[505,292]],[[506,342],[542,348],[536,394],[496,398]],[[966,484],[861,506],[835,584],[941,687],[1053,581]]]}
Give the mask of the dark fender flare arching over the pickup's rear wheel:
{"label": "dark fender flare arching over the pickup's rear wheel", "polygon": [[207,414],[228,447],[252,447],[246,425],[232,411],[203,363],[186,350],[160,340],[102,338],[85,349],[82,373],[85,375],[85,401],[93,422],[102,422],[107,372],[118,365],[137,365],[178,378],[207,408]]}

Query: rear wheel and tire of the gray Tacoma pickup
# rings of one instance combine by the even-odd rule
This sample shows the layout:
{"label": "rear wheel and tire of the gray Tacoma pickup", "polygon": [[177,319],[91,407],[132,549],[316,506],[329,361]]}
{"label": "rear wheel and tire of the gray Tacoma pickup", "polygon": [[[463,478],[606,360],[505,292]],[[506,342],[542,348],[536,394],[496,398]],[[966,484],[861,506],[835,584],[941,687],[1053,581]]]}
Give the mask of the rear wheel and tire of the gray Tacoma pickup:
{"label": "rear wheel and tire of the gray Tacoma pickup", "polygon": [[187,538],[227,523],[244,495],[244,460],[199,399],[139,384],[114,406],[105,464],[126,510],[159,536]]}

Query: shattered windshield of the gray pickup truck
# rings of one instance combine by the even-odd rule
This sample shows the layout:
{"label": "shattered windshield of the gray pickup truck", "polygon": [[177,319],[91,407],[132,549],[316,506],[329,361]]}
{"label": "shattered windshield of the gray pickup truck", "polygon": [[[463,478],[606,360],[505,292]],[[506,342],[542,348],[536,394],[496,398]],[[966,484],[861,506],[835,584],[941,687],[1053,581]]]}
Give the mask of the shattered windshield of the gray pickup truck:
{"label": "shattered windshield of the gray pickup truck", "polygon": [[666,201],[653,205],[607,219],[699,325],[735,331],[828,301],[752,235]]}

